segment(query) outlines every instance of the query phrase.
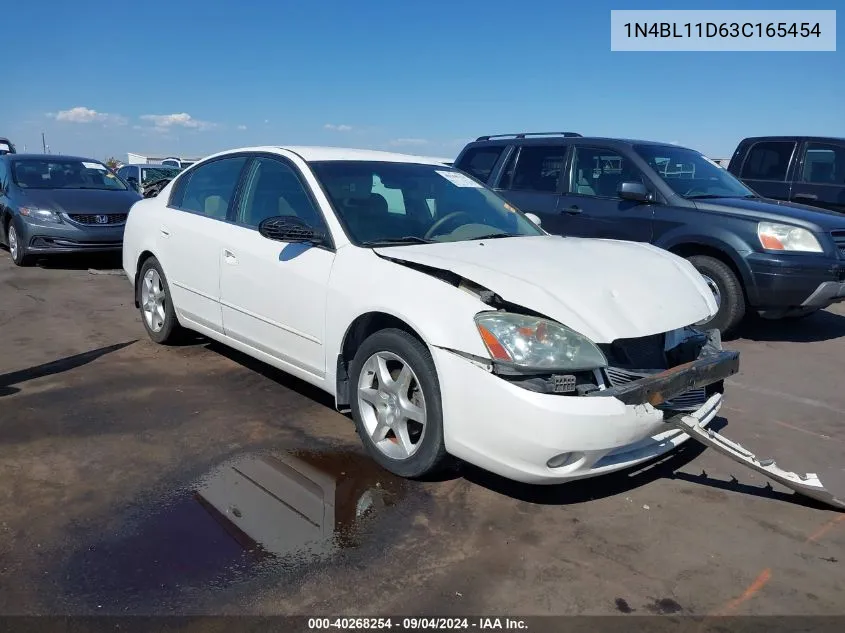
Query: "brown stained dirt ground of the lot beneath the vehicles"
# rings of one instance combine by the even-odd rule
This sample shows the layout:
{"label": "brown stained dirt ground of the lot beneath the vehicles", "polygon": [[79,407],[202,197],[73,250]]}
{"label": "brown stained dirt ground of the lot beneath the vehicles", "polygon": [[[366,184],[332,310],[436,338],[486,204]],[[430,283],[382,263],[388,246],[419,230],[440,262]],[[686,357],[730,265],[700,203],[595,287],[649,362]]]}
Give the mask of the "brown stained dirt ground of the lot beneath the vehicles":
{"label": "brown stained dirt ground of the lot beneath the vehicles", "polygon": [[[2,614],[845,611],[845,513],[693,442],[565,486],[398,481],[321,392],[204,340],[152,344],[117,265],[0,252]],[[727,345],[726,435],[841,474],[845,310]],[[338,482],[318,545],[298,535],[321,520],[268,492],[281,475],[225,483],[231,460],[289,455]]]}

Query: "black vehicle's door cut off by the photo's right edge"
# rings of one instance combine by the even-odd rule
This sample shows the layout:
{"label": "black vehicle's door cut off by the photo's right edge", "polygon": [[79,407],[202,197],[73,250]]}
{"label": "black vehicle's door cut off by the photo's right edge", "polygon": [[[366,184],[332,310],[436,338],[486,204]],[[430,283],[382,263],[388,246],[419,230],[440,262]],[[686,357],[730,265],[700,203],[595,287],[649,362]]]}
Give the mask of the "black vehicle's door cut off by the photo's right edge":
{"label": "black vehicle's door cut off by the photo's right edge", "polygon": [[845,213],[845,142],[803,144],[791,199]]}

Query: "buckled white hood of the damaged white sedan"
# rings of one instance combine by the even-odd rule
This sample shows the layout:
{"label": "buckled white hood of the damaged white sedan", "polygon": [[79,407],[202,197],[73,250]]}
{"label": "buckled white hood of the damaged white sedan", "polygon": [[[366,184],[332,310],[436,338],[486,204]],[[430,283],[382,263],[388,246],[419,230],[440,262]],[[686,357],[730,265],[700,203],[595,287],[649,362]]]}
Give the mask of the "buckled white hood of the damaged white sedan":
{"label": "buckled white hood of the damaged white sedan", "polygon": [[374,250],[451,271],[597,343],[667,332],[717,309],[689,262],[649,244],[549,235]]}

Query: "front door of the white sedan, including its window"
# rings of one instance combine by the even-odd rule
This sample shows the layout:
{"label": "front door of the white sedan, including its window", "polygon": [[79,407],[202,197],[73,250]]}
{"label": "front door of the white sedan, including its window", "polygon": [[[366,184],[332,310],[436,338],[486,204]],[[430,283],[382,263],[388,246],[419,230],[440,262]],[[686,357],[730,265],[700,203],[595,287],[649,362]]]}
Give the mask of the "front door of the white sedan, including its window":
{"label": "front door of the white sedan, including its window", "polygon": [[296,168],[259,156],[247,168],[243,191],[220,255],[220,303],[226,336],[322,378],[326,287],[334,252],[278,242],[258,232],[265,218],[292,215],[327,232],[322,214]]}

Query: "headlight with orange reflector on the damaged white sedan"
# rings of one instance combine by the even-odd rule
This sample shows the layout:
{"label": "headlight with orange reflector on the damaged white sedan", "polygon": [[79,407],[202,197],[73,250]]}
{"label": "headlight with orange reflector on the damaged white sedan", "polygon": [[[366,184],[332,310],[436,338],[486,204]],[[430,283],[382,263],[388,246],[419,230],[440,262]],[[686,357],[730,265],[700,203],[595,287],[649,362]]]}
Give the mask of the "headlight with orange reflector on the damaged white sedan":
{"label": "headlight with orange reflector on the damaged white sedan", "polygon": [[491,358],[526,369],[583,371],[607,367],[602,351],[565,325],[524,314],[482,312],[478,333]]}

